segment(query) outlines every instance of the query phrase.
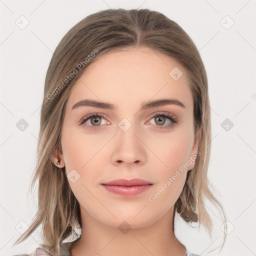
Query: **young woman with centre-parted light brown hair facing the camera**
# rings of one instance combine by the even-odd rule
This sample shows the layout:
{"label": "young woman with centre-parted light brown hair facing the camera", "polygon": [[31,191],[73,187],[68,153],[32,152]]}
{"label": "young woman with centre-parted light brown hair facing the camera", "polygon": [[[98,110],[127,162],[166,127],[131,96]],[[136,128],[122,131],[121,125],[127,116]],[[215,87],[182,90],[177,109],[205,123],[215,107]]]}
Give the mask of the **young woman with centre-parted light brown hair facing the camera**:
{"label": "young woman with centre-parted light brown hair facing the camera", "polygon": [[177,23],[149,9],[85,17],[47,70],[38,212],[14,244],[41,225],[29,255],[194,255],[175,213],[211,235],[209,199],[225,220],[209,190],[210,139],[206,72]]}

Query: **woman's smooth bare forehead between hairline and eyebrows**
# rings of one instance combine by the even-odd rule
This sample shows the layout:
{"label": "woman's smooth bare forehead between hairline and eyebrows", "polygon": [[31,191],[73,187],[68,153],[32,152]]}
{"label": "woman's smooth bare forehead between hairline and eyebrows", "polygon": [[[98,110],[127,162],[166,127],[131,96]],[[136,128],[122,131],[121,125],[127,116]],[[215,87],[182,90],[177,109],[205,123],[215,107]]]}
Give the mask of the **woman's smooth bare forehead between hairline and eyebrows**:
{"label": "woman's smooth bare forehead between hairline and eyebrows", "polygon": [[173,98],[192,106],[183,66],[170,56],[142,46],[98,56],[76,81],[67,107],[83,98],[136,108],[142,101]]}

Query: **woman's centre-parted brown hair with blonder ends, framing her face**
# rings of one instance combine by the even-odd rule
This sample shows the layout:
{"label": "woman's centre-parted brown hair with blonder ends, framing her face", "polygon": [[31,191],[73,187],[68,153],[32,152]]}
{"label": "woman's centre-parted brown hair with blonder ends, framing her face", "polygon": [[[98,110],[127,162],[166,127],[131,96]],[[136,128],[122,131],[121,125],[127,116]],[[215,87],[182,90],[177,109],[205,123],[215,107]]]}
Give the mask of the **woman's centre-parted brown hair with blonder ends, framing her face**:
{"label": "woman's centre-parted brown hair with blonder ends, framing her face", "polygon": [[[225,220],[224,209],[210,191],[207,178],[210,106],[206,71],[195,44],[176,22],[160,12],[106,9],[75,24],[60,40],[50,60],[40,112],[36,166],[29,187],[34,188],[38,180],[38,210],[14,245],[27,239],[41,225],[44,244],[60,255],[61,242],[77,235],[74,227],[81,227],[79,203],[70,189],[65,168],[59,169],[51,160],[55,149],[60,148],[66,102],[76,80],[93,61],[104,53],[135,46],[147,46],[174,58],[184,67],[193,97],[194,132],[201,129],[200,156],[194,168],[187,172],[181,194],[174,204],[174,214],[179,213],[187,223],[202,224],[211,237],[212,221],[204,204],[208,199]],[[225,233],[222,246],[224,241]]]}

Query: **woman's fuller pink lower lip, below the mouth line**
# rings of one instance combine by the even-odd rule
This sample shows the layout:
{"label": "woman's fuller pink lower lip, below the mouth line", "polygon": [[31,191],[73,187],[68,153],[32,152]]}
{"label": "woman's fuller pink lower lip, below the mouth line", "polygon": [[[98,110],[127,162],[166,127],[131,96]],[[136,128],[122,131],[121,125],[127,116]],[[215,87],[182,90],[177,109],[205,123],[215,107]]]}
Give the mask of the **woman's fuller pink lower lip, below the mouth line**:
{"label": "woman's fuller pink lower lip, below the mouth line", "polygon": [[142,193],[146,189],[148,189],[151,185],[136,185],[136,186],[118,186],[118,185],[105,185],[102,184],[104,188],[110,192],[124,195],[124,196],[132,196],[139,193]]}

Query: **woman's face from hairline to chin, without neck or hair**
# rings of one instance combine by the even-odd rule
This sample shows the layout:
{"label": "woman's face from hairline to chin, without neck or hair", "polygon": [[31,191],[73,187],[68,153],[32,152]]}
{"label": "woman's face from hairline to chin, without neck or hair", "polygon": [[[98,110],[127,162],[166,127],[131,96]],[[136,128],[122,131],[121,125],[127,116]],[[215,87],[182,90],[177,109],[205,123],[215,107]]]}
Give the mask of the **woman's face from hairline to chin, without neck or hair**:
{"label": "woman's face from hairline to chin, without neck or hair", "polygon": [[[148,105],[162,99],[170,101]],[[134,228],[152,224],[173,207],[195,163],[193,99],[184,68],[141,46],[101,55],[68,98],[61,149],[82,214],[116,227],[123,220]],[[133,178],[148,185],[102,185]]]}

